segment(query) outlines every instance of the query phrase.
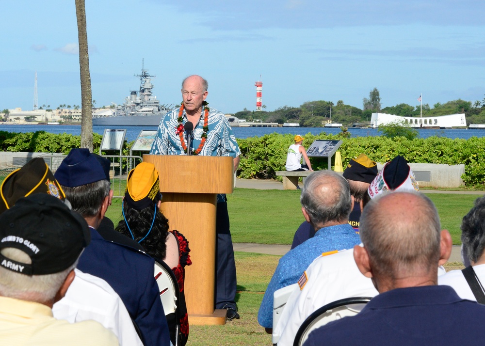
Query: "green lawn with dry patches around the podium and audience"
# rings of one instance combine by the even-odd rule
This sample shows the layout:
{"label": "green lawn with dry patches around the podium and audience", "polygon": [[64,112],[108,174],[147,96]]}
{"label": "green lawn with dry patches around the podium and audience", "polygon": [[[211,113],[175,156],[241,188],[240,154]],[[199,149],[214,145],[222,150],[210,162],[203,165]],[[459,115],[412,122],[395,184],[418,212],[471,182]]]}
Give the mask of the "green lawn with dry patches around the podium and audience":
{"label": "green lawn with dry patches around the podium and audience", "polygon": [[[461,219],[478,196],[438,193],[428,196],[436,204],[442,228],[450,230],[453,243],[459,244]],[[227,197],[234,242],[290,244],[296,228],[304,220],[300,191],[235,189]],[[121,199],[113,200],[107,214],[115,224],[121,220]],[[236,301],[241,319],[224,326],[191,326],[188,346],[271,345],[271,336],[259,326],[257,315],[280,256],[236,252],[235,257]],[[445,267],[449,270],[463,266],[448,263]]]}

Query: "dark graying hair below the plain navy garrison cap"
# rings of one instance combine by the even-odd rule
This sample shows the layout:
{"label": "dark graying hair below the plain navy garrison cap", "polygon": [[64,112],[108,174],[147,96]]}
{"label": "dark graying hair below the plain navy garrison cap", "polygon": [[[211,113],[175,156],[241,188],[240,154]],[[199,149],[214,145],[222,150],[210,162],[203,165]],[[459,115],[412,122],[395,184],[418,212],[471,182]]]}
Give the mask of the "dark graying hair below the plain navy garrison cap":
{"label": "dark graying hair below the plain navy garrison cap", "polygon": [[104,179],[75,188],[62,188],[72,205],[72,210],[81,214],[83,218],[96,216],[105,197],[110,194],[110,182]]}

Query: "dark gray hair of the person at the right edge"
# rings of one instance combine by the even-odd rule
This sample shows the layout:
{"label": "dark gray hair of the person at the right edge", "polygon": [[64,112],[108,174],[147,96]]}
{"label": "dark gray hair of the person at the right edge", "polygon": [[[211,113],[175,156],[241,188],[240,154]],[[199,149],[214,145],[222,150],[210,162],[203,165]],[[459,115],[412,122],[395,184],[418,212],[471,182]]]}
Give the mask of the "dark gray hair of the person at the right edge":
{"label": "dark gray hair of the person at the right edge", "polygon": [[475,200],[475,205],[461,223],[463,256],[478,262],[485,250],[485,197]]}

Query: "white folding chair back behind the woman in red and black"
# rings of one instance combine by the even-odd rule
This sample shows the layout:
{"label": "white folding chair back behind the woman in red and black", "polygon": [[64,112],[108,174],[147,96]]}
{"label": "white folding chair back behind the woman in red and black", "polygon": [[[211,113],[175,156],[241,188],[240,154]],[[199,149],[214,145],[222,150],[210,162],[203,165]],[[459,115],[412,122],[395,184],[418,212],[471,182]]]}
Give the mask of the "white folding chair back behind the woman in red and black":
{"label": "white folding chair back behind the woman in red and black", "polygon": [[162,300],[163,311],[168,320],[175,320],[175,330],[171,331],[172,344],[179,345],[180,341],[180,309],[177,302],[180,300],[180,291],[178,290],[177,278],[174,272],[164,262],[155,260],[155,280],[160,290],[160,299]]}

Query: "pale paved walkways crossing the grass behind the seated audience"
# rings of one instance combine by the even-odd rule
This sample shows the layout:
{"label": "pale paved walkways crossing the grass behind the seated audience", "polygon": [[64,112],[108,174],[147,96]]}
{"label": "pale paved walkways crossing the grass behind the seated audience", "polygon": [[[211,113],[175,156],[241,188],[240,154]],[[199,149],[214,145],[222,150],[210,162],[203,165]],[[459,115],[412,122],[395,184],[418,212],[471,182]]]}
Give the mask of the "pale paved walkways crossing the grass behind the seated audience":
{"label": "pale paved walkways crossing the grass behind the seated audience", "polygon": [[[241,189],[260,189],[260,190],[282,190],[283,183],[271,179],[236,179],[236,188]],[[452,194],[470,194],[484,195],[484,191],[442,191],[442,190],[421,190],[424,193],[452,193]],[[291,245],[270,245],[270,244],[253,244],[253,243],[235,243],[234,251],[256,252],[270,255],[284,255],[290,251]],[[453,246],[449,262],[461,262],[460,246]]]}

